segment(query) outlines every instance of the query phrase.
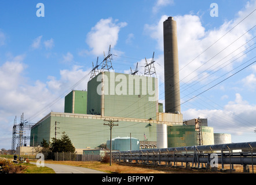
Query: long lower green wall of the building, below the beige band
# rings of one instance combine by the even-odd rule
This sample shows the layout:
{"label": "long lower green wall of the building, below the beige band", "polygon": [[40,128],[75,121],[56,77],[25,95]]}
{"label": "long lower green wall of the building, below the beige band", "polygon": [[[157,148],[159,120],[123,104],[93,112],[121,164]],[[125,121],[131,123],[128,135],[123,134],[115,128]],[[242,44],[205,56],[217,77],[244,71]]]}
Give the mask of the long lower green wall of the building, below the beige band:
{"label": "long lower green wall of the building, below the beige band", "polygon": [[[76,149],[94,148],[102,143],[107,143],[107,140],[110,139],[110,130],[107,125],[103,125],[106,122],[101,120],[101,116],[88,116],[90,115],[50,113],[49,118],[31,130],[31,134],[38,132],[38,135],[35,136],[38,144],[42,142],[42,139],[52,140],[55,133],[54,124],[57,121],[57,138],[61,138],[62,132],[65,131]],[[156,142],[155,123],[119,121],[118,124],[112,128],[112,138],[130,136],[131,133],[133,138],[145,140],[146,137],[148,141]]]}

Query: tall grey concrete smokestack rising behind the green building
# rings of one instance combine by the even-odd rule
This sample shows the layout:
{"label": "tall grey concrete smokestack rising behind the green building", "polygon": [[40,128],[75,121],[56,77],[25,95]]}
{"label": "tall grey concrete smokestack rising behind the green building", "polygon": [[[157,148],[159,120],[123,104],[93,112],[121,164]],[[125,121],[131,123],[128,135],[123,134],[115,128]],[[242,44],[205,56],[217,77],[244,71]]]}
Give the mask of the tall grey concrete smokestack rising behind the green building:
{"label": "tall grey concrete smokestack rising behind the green building", "polygon": [[177,24],[173,17],[163,22],[165,112],[181,112]]}

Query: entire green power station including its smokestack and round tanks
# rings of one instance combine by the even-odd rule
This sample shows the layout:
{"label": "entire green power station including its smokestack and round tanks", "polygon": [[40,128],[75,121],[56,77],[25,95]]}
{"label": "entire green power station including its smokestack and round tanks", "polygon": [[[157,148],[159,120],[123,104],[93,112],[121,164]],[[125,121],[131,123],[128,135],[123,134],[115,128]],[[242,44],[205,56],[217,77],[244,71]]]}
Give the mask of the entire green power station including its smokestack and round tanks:
{"label": "entire green power station including its smokestack and round tanks", "polygon": [[[87,91],[72,90],[65,97],[63,113],[50,112],[33,125],[30,143],[40,145],[43,139],[60,138],[65,132],[77,150],[106,148],[110,138],[109,127],[104,123],[112,120],[118,121],[112,132],[115,150],[137,150],[138,142],[140,149],[213,145],[213,128],[203,124],[202,119],[183,120],[177,24],[173,17],[163,23],[163,40],[165,112],[158,101],[156,77],[115,73],[111,68],[96,74],[96,64]],[[105,65],[110,56],[109,47]],[[131,137],[132,146],[127,142]]]}

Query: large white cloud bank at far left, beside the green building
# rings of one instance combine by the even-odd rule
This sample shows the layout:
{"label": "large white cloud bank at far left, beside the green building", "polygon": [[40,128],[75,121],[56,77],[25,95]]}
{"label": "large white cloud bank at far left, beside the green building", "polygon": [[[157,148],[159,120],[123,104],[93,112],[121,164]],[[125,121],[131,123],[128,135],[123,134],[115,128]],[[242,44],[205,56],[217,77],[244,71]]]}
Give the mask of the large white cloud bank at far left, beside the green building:
{"label": "large white cloud bank at far left, beside the green building", "polygon": [[72,89],[85,90],[90,77],[90,71],[74,66],[71,70],[61,70],[60,79],[49,76],[46,83],[33,81],[25,77],[24,59],[25,56],[16,56],[0,65],[0,130],[8,134],[14,116],[19,119],[21,113],[36,123],[51,110],[63,112],[64,96]]}

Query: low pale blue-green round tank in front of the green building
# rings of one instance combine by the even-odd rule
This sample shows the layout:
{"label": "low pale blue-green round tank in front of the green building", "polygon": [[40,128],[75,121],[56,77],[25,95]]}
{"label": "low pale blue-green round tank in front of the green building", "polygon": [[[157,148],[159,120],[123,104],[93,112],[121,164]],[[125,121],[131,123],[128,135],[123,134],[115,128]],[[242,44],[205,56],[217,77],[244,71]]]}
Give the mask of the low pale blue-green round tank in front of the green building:
{"label": "low pale blue-green round tank in front of the green building", "polygon": [[[107,141],[107,147],[110,147],[110,140]],[[114,138],[112,139],[112,150],[140,150],[140,140],[130,137]]]}

